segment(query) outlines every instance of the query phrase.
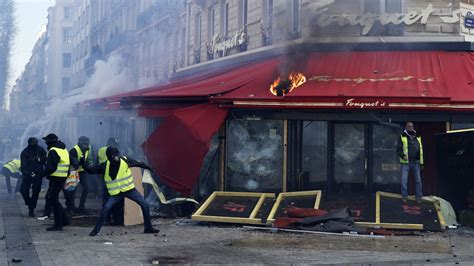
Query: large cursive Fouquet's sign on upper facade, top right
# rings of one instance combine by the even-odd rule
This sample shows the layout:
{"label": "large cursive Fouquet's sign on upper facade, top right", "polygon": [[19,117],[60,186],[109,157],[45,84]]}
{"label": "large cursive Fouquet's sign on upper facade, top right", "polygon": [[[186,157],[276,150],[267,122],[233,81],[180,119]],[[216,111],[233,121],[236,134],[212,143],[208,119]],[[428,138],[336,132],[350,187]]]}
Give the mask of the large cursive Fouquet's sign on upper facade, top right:
{"label": "large cursive Fouquet's sign on upper facade, top right", "polygon": [[[407,14],[401,13],[365,13],[362,15],[358,14],[346,14],[342,13],[340,15],[324,14],[328,10],[328,6],[332,4],[332,1],[328,1],[327,5],[320,6],[317,13],[319,17],[316,21],[316,24],[319,27],[326,27],[333,23],[337,23],[339,26],[351,25],[351,26],[361,26],[362,35],[367,35],[370,30],[372,30],[375,22],[379,21],[382,25],[394,24],[400,25],[405,24],[407,26],[413,25],[417,22],[421,24],[428,24],[428,20],[433,13],[439,13],[440,9],[433,8],[433,4],[428,4],[428,6],[421,11],[410,11]],[[454,24],[460,22],[460,16],[462,14],[461,9],[455,9],[451,12],[450,15],[440,15],[439,18],[443,23]]]}

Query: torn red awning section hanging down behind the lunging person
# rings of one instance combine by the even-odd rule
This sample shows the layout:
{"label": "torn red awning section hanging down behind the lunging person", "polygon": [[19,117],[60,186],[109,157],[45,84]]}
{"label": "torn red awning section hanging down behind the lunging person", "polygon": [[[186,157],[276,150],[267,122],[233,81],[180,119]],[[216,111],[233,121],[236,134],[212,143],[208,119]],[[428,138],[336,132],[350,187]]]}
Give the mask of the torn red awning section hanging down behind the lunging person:
{"label": "torn red awning section hanging down behind the lunging person", "polygon": [[191,194],[212,136],[227,117],[213,104],[177,109],[143,143],[143,151],[161,180],[186,196]]}

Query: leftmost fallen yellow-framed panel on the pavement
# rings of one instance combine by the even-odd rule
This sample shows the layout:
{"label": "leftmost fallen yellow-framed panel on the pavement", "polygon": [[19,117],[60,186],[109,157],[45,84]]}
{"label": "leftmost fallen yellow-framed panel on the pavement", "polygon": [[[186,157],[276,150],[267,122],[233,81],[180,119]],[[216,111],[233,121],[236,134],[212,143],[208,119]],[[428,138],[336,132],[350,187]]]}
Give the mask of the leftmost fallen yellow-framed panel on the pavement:
{"label": "leftmost fallen yellow-framed panel on the pavement", "polygon": [[194,221],[262,224],[274,201],[272,193],[216,191],[192,215]]}

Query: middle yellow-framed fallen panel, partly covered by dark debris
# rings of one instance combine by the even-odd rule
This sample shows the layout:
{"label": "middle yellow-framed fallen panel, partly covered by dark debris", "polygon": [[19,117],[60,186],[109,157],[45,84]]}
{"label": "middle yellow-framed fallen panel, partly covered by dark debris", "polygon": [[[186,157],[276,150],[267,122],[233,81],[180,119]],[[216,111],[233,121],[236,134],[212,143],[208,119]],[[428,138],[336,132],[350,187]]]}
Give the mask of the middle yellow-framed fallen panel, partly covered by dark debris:
{"label": "middle yellow-framed fallen panel, partly covered by dark debris", "polygon": [[268,216],[268,223],[279,217],[288,217],[286,213],[288,207],[318,209],[321,195],[321,190],[280,193]]}

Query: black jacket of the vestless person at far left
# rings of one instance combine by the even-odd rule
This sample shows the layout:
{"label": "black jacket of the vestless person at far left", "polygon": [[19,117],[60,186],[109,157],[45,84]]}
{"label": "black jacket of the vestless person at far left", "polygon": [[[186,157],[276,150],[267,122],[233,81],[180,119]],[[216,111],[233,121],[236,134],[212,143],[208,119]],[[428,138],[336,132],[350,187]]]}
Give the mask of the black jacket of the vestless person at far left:
{"label": "black jacket of the vestless person at far left", "polygon": [[20,155],[21,173],[24,177],[42,177],[46,151],[43,147],[34,145],[26,147]]}

